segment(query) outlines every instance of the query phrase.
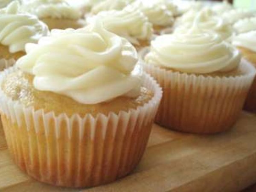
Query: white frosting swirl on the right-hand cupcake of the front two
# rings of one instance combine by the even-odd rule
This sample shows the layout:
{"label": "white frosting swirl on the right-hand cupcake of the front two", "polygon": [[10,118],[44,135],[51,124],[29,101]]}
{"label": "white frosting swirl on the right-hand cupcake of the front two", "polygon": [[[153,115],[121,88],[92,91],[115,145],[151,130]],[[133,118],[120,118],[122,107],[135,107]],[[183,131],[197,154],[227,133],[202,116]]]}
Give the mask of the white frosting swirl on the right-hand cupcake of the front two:
{"label": "white frosting swirl on the right-hand cupcake of the front two", "polygon": [[184,73],[206,74],[233,70],[240,58],[239,51],[218,34],[190,29],[186,34],[157,37],[145,61]]}

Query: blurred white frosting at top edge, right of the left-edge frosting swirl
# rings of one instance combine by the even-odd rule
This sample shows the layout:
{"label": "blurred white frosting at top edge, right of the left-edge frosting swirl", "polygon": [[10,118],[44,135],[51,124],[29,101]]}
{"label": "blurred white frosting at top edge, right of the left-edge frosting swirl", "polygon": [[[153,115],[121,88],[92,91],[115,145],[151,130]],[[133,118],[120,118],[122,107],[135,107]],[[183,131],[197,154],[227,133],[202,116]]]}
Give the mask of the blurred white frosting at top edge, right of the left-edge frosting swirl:
{"label": "blurred white frosting at top edge, right of the left-edge frosting swirl", "polygon": [[42,18],[71,19],[80,18],[78,9],[70,6],[64,0],[27,0],[21,7],[23,12],[29,12]]}

